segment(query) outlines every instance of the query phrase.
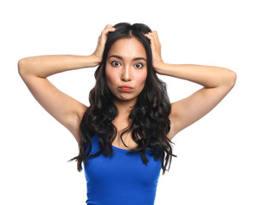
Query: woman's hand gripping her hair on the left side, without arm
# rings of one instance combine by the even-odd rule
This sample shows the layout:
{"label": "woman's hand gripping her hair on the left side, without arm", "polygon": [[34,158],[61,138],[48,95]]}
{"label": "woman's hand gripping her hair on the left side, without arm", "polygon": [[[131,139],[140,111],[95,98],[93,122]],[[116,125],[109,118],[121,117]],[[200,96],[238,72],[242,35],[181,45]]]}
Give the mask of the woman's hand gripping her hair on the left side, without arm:
{"label": "woman's hand gripping her hair on the left side, without arm", "polygon": [[115,32],[116,28],[112,25],[108,24],[105,26],[104,30],[101,32],[100,36],[98,37],[98,45],[96,50],[93,52],[92,56],[95,58],[95,60],[98,62],[98,64],[102,61],[103,52],[105,43],[107,41],[107,35],[109,32]]}

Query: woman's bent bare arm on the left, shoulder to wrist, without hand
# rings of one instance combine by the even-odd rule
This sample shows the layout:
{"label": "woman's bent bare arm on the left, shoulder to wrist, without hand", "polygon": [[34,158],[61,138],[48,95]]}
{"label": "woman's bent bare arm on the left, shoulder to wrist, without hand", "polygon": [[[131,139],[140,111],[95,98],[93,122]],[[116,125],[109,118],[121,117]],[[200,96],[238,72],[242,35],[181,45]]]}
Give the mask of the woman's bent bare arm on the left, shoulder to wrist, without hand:
{"label": "woman's bent bare arm on the left, shoulder to wrist, without hand", "polygon": [[33,56],[18,62],[19,73],[33,97],[45,110],[79,139],[79,125],[86,106],[51,84],[48,76],[98,65],[94,56]]}

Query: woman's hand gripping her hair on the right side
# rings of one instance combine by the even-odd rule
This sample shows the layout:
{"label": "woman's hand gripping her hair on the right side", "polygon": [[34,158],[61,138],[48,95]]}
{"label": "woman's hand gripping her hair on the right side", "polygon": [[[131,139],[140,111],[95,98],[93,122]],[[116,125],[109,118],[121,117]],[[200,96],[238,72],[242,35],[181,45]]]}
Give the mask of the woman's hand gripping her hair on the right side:
{"label": "woman's hand gripping her hair on the right side", "polygon": [[161,57],[161,44],[158,38],[158,32],[152,31],[144,35],[146,38],[150,39],[152,48],[152,65],[158,72],[158,67],[164,63]]}

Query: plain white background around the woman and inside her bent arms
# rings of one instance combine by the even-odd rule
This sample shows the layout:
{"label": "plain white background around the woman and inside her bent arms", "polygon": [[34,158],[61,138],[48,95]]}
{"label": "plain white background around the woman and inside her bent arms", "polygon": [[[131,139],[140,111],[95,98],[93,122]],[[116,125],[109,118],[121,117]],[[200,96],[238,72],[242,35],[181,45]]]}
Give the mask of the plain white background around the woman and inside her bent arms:
{"label": "plain white background around the woman and inside her bent arms", "polygon": [[[35,101],[18,74],[27,56],[90,55],[106,24],[142,22],[157,30],[165,62],[227,67],[229,95],[174,138],[170,172],[161,174],[156,205],[256,204],[255,4],[243,0],[5,1],[0,3],[0,204],[84,205],[71,133]],[[95,68],[49,79],[88,105]],[[199,85],[160,76],[170,101]],[[254,196],[253,196],[254,195]]]}

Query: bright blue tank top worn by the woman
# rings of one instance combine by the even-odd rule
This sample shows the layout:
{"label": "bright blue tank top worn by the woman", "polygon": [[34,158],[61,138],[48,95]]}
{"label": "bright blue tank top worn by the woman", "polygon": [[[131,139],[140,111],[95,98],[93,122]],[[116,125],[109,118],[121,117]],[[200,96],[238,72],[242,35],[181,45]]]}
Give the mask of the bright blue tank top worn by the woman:
{"label": "bright blue tank top worn by the woman", "polygon": [[[161,160],[154,160],[146,150],[147,164],[140,152],[128,154],[128,149],[116,148],[112,157],[103,153],[84,162],[87,185],[87,205],[153,205],[155,201]],[[98,135],[92,137],[92,151],[99,150]]]}

